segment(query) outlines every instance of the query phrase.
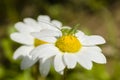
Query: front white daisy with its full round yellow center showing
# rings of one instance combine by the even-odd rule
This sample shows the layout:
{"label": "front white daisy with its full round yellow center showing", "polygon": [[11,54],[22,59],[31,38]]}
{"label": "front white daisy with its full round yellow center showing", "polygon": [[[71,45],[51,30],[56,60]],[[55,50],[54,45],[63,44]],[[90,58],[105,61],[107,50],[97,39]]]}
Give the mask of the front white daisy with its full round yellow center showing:
{"label": "front white daisy with its full round yellow center showing", "polygon": [[[75,68],[77,63],[88,70],[92,68],[92,62],[106,63],[102,50],[97,46],[105,43],[103,37],[99,35],[88,36],[82,31],[71,28],[61,28],[60,30],[61,33],[58,36],[47,31],[44,32],[44,37],[46,37],[45,34],[50,34],[49,36],[54,36],[56,39],[49,44],[36,47],[30,53],[34,59],[42,58],[46,61],[52,58],[55,70],[61,73],[65,67],[68,69]],[[52,32],[55,33],[56,31],[52,30]],[[39,33],[32,33],[32,35],[45,41],[43,36],[39,36]]]}

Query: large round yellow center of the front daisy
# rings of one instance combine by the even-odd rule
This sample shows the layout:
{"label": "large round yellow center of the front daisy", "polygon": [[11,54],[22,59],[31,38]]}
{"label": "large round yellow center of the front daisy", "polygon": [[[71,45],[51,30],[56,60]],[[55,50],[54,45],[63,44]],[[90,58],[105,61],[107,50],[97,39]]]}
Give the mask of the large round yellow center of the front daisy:
{"label": "large round yellow center of the front daisy", "polygon": [[60,51],[74,53],[80,50],[82,47],[80,41],[73,35],[63,35],[55,44]]}

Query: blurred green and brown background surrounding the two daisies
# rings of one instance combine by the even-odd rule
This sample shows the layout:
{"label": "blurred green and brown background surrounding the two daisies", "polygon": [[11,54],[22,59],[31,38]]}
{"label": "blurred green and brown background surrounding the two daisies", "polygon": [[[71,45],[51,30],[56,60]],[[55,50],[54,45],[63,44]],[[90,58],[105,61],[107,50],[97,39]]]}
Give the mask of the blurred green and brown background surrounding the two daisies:
{"label": "blurred green and brown background surrounding the two daisies", "polygon": [[16,31],[14,24],[43,14],[63,25],[80,24],[86,34],[98,34],[107,41],[100,46],[107,64],[94,63],[90,71],[78,65],[68,70],[67,80],[120,80],[120,0],[0,0],[0,80],[61,80],[53,68],[44,79],[36,66],[20,70],[20,60],[13,60],[20,46],[9,38]]}

